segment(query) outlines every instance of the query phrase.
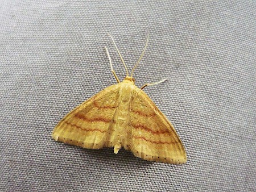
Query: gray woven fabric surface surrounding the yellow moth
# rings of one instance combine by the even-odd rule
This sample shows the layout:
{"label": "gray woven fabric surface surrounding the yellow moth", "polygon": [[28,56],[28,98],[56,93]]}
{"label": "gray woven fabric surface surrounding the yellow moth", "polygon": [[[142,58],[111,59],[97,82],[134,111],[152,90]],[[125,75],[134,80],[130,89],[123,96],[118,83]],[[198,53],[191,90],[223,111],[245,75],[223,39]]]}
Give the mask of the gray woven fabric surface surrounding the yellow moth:
{"label": "gray woven fabric surface surrounding the yellow moth", "polygon": [[[0,1],[1,191],[255,191],[255,1]],[[57,143],[125,69],[174,124],[184,165]]]}

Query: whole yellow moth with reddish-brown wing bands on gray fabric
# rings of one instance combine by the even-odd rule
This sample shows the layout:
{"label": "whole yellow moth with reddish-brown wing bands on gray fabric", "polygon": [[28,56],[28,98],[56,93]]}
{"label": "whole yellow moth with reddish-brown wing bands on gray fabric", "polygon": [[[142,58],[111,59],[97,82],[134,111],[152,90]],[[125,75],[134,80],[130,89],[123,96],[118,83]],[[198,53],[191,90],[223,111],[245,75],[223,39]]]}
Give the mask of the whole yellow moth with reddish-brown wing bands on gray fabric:
{"label": "whole yellow moth with reddish-brown wing bands on gray fabric", "polygon": [[[113,37],[110,37],[125,65]],[[185,149],[174,127],[142,90],[165,80],[145,84],[141,89],[135,85],[133,72],[146,51],[147,43],[148,37],[131,76],[125,65],[126,77],[122,82],[113,70],[105,47],[117,84],[106,87],[69,112],[53,130],[53,139],[88,149],[114,147],[115,154],[123,147],[148,161],[187,162]]]}

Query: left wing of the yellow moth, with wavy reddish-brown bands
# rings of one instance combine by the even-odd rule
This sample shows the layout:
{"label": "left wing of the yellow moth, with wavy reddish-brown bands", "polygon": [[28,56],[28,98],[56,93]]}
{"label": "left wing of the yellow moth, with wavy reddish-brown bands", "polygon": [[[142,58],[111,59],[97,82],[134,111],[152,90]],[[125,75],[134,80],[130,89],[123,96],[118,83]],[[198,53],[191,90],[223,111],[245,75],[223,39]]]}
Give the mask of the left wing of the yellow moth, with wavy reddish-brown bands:
{"label": "left wing of the yellow moth, with wavy reddish-brown bands", "polygon": [[77,106],[57,124],[53,139],[89,149],[105,147],[118,95],[118,84],[112,85]]}

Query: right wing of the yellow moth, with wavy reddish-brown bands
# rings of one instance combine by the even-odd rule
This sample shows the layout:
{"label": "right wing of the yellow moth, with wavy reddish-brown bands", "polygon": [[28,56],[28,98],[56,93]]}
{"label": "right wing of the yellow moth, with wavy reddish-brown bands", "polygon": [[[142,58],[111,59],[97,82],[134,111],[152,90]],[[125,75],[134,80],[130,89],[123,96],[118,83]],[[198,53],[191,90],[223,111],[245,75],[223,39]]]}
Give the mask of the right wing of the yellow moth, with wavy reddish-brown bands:
{"label": "right wing of the yellow moth, with wavy reddish-brown bands", "polygon": [[148,161],[183,164],[187,155],[174,127],[144,91],[135,89],[131,102],[130,150]]}

